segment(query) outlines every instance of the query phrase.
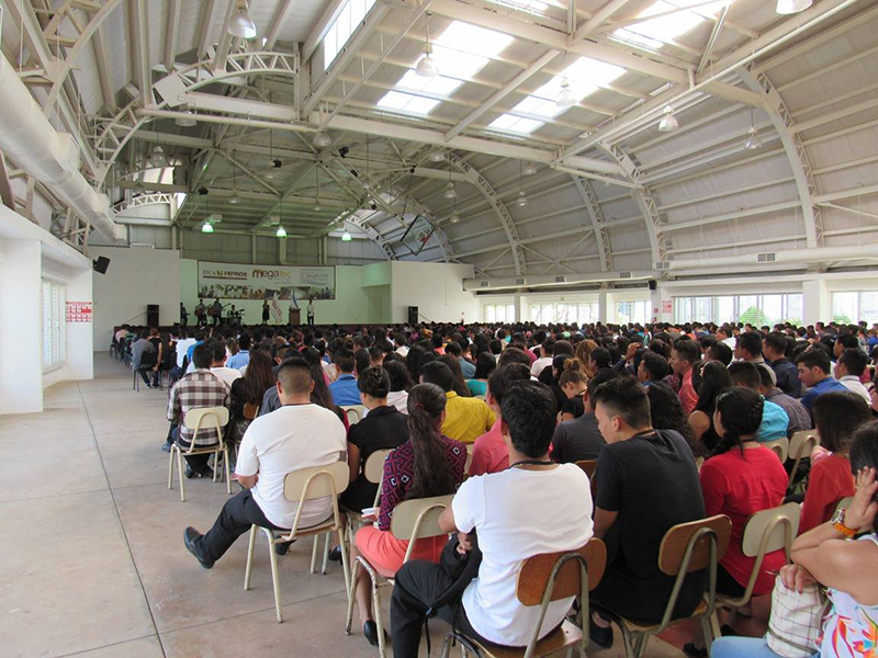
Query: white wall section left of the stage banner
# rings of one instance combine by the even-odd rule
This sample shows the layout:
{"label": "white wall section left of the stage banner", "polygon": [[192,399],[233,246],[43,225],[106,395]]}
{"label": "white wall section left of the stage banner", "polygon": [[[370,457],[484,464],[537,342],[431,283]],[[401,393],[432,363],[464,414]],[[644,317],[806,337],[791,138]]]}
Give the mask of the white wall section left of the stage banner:
{"label": "white wall section left of the stage banner", "polygon": [[111,260],[94,273],[94,349],[109,349],[113,327],[146,325],[146,305],[159,305],[159,322],[180,319],[180,253],[170,249],[92,247],[89,256]]}

